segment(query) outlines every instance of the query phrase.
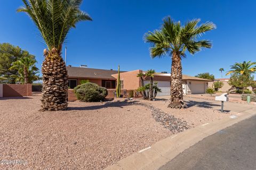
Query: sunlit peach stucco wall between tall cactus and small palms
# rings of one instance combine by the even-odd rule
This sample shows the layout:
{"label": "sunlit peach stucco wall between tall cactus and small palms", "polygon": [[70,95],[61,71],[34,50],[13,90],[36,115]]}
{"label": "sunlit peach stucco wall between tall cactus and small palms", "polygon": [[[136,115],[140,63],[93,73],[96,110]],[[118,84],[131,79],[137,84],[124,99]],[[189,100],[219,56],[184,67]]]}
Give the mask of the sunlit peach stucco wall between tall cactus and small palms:
{"label": "sunlit peach stucco wall between tall cactus and small palms", "polygon": [[[141,70],[134,70],[129,72],[120,73],[120,80],[123,81],[124,89],[126,90],[135,90],[140,87],[141,82],[140,78],[137,77],[137,74],[141,73]],[[118,74],[112,75],[117,79]]]}

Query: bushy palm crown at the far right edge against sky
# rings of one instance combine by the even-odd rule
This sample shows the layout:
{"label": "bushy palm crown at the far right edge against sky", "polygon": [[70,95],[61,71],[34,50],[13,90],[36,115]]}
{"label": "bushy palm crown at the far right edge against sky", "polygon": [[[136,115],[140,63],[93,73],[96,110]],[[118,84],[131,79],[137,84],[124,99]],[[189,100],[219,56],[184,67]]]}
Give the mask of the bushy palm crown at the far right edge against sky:
{"label": "bushy palm crown at the far right edge against sky", "polygon": [[249,77],[251,73],[256,72],[256,62],[243,62],[243,63],[235,63],[234,65],[230,66],[231,70],[227,72],[226,75],[229,75],[231,73],[238,73],[241,75],[246,75]]}

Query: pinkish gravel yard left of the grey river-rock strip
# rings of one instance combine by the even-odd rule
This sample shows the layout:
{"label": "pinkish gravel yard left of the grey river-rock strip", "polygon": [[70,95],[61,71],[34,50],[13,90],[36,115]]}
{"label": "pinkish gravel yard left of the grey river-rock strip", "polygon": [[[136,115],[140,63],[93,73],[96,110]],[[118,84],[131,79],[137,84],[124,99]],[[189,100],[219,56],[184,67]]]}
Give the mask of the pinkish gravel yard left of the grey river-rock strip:
{"label": "pinkish gravel yard left of the grey river-rock strip", "polygon": [[173,134],[140,101],[38,112],[39,98],[0,99],[0,161],[25,162],[0,169],[102,169]]}

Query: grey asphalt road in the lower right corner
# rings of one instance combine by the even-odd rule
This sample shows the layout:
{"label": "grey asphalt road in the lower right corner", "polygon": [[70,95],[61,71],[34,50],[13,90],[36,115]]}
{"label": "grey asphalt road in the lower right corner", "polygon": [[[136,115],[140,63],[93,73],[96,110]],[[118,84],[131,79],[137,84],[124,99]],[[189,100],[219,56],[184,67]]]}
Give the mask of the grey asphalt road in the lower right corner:
{"label": "grey asphalt road in the lower right corner", "polygon": [[159,170],[255,170],[256,116],[183,151]]}

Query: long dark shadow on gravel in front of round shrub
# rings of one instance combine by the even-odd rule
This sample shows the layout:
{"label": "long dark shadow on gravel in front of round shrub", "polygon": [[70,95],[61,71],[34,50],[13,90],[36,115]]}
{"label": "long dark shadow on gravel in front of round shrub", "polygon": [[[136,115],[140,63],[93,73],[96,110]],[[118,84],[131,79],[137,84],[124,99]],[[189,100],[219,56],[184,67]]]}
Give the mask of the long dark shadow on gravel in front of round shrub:
{"label": "long dark shadow on gravel in front of round shrub", "polygon": [[84,106],[84,107],[68,107],[67,111],[88,111],[107,107],[121,107],[139,104],[138,101],[110,101],[98,106]]}

